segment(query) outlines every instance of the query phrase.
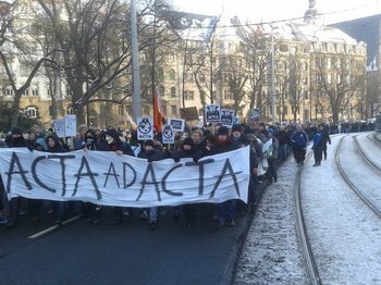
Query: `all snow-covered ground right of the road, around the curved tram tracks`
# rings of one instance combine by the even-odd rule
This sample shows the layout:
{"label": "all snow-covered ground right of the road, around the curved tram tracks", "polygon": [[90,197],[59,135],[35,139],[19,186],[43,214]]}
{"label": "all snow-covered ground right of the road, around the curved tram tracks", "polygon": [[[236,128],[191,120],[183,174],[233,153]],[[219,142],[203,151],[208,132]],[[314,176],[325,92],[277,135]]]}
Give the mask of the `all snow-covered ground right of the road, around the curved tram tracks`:
{"label": "all snow-covered ground right of the road, around the curved tram tracks", "polygon": [[[380,157],[381,148],[371,149],[360,136],[361,146]],[[339,173],[334,150],[341,137],[332,139],[328,160],[321,166],[314,168],[311,157],[303,169],[302,205],[312,252],[322,284],[381,284],[381,220]],[[345,144],[353,144],[352,138],[345,139]],[[345,144],[348,150],[341,150],[345,169],[357,170],[362,177],[377,175],[368,166],[358,165],[357,158],[351,160],[354,148]],[[279,183],[265,191],[234,284],[308,284],[295,233],[295,164],[294,159],[284,163],[279,170]]]}

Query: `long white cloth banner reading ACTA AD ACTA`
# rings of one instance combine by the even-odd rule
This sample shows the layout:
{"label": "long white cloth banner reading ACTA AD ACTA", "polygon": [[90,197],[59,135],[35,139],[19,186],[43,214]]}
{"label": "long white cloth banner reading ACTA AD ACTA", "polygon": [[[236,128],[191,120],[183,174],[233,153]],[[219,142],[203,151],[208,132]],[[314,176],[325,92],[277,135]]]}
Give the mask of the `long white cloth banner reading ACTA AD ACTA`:
{"label": "long white cloth banner reading ACTA AD ACTA", "polygon": [[47,153],[0,149],[9,198],[81,200],[105,206],[151,207],[193,202],[247,202],[249,148],[193,161],[147,160],[109,151]]}

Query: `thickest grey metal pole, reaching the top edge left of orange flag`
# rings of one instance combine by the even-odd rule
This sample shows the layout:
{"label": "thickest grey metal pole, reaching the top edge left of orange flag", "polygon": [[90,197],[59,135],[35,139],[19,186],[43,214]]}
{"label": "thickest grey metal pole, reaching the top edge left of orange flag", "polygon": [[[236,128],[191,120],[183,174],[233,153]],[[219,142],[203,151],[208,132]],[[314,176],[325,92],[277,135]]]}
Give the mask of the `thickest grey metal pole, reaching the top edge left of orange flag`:
{"label": "thickest grey metal pole, reaching the top edge left of orange flag", "polygon": [[131,0],[131,42],[133,59],[133,116],[134,121],[137,122],[137,119],[142,116],[142,97],[135,0]]}

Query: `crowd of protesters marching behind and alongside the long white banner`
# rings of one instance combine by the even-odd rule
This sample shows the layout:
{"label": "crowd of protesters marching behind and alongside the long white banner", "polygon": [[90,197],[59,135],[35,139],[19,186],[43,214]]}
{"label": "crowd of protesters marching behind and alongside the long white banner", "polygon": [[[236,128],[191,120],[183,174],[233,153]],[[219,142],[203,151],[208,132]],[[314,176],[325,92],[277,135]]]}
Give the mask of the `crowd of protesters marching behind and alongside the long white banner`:
{"label": "crowd of protesters marching behind and alongside the long white banner", "polygon": [[[258,202],[255,195],[258,185],[278,182],[279,163],[288,159],[293,153],[297,165],[303,165],[307,144],[312,141],[315,165],[320,165],[322,158],[327,159],[327,142],[331,144],[329,134],[335,133],[340,128],[340,132],[343,129],[348,132],[346,127],[346,125],[342,125],[337,128],[335,126],[329,128],[324,124],[272,126],[261,123],[256,126],[236,124],[229,129],[226,126],[212,125],[176,133],[175,144],[165,146],[161,144],[160,134],[157,134],[155,139],[137,141],[136,132],[124,128],[98,129],[81,125],[77,136],[71,141],[69,138],[59,138],[52,129],[25,133],[19,127],[14,127],[8,133],[2,147],[26,147],[30,151],[45,152],[67,152],[81,149],[85,151],[114,151],[118,154],[147,159],[149,162],[163,159],[173,159],[176,162],[181,158],[193,158],[197,162],[204,157],[249,146],[250,179],[248,203],[245,209],[250,211]],[[102,208],[105,208],[89,202],[32,200],[21,197],[12,198],[9,201],[2,182],[0,182],[0,224],[5,224],[9,228],[16,226],[17,216],[22,214],[27,214],[32,223],[39,222],[41,211],[51,214],[58,225],[73,214],[81,214],[81,216],[87,218],[89,223],[98,224],[101,222]],[[216,213],[213,216],[216,228],[235,225],[236,200],[228,200],[211,207]],[[182,216],[184,224],[193,227],[196,223],[196,212],[197,205],[183,205],[174,208],[174,218]],[[112,223],[116,225],[123,221],[124,216],[132,214],[132,210],[113,207],[112,213]],[[163,213],[163,208],[151,207],[150,209],[140,209],[139,216],[148,220],[149,228],[155,230],[158,215]]]}

